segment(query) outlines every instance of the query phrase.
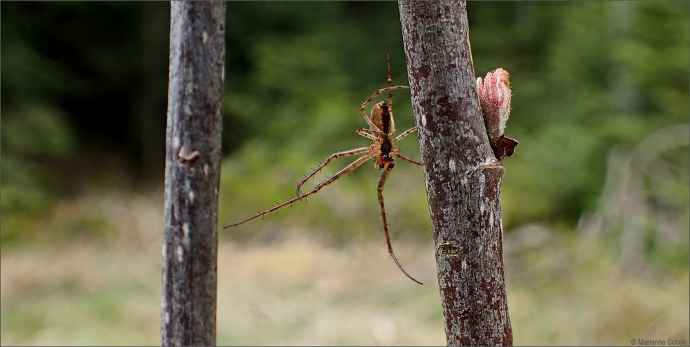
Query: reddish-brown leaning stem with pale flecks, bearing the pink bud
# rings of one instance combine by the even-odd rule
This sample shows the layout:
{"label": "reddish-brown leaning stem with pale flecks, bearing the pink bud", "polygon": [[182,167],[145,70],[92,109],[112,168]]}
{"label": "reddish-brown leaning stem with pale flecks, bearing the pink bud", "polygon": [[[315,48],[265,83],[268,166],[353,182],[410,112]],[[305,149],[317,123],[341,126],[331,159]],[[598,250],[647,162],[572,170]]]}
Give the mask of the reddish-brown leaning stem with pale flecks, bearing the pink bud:
{"label": "reddish-brown leaning stem with pale flecks, bearing the pink bud", "polygon": [[489,145],[464,1],[400,1],[449,346],[511,345],[504,168]]}

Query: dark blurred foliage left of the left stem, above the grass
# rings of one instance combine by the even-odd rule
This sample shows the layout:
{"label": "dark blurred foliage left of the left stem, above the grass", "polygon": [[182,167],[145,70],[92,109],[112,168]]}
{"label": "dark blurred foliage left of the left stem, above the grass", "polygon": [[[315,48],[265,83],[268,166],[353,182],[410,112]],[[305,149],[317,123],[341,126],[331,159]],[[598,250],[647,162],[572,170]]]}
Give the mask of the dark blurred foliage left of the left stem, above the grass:
{"label": "dark blurred foliage left of the left stem, above the grass", "polygon": [[4,243],[46,234],[35,221],[58,199],[160,177],[169,19],[164,3],[3,1],[0,12]]}

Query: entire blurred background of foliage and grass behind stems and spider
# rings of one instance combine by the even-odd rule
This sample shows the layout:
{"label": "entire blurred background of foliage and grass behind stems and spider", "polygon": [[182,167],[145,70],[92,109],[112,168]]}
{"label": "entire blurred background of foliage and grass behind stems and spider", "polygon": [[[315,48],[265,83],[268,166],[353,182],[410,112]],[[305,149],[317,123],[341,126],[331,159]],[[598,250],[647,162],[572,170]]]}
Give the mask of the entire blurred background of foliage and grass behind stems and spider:
{"label": "entire blurred background of foliage and grass behind stems and spider", "polygon": [[[0,339],[159,344],[165,2],[0,3]],[[476,74],[511,73],[502,212],[516,345],[689,338],[686,2],[471,2]],[[395,2],[230,2],[219,225],[365,146],[408,84]],[[397,128],[413,125],[395,93]],[[415,136],[400,143],[419,158]],[[342,159],[324,170],[344,166]],[[444,344],[420,168],[371,165],[219,235],[218,344]]]}

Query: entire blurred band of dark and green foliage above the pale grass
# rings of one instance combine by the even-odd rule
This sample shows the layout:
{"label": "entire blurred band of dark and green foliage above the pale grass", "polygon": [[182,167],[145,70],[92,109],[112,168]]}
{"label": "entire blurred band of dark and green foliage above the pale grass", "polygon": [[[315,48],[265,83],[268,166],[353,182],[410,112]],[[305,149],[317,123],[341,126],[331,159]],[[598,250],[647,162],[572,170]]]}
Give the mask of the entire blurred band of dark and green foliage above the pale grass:
{"label": "entire blurred band of dark and green foliage above the pale grass", "polygon": [[[59,197],[160,184],[168,4],[0,6],[3,240]],[[505,163],[506,230],[533,221],[573,230],[600,203],[613,146],[630,150],[687,123],[687,14],[672,2],[470,4],[477,75],[506,68],[515,94],[508,133],[520,147]],[[233,2],[227,23],[221,221],[289,197],[326,155],[366,144],[353,134],[363,125],[357,106],[385,85],[386,50],[394,83],[407,84],[395,3]],[[413,125],[407,93],[395,93],[400,129]],[[414,137],[401,146],[418,157]],[[409,201],[397,212],[402,226],[424,230],[415,170],[397,169],[387,194]],[[377,175],[359,171],[328,189],[338,194],[315,197],[304,218],[351,219],[324,201],[373,197]],[[687,191],[687,172],[679,175],[675,190]],[[372,201],[350,206],[371,215],[363,226],[376,223]],[[335,222],[332,231],[352,229]]]}

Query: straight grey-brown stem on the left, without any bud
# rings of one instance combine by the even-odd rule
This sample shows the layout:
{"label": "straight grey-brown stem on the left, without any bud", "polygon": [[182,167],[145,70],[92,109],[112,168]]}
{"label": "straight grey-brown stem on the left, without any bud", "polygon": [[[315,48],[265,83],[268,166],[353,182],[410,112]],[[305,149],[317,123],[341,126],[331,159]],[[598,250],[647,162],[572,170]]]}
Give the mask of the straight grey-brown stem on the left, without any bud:
{"label": "straight grey-brown stem on the left, without any bud", "polygon": [[163,346],[215,346],[224,43],[224,2],[171,2]]}

